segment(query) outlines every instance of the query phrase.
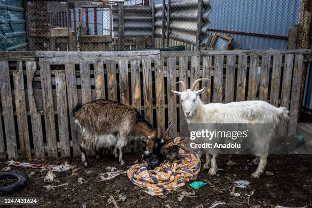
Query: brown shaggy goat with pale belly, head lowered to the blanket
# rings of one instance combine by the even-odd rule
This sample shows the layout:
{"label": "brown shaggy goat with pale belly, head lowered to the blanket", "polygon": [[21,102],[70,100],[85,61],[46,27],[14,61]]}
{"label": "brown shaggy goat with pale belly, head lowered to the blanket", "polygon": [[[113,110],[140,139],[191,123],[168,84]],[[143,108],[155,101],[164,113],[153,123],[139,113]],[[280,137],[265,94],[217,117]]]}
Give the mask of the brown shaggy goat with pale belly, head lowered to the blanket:
{"label": "brown shaggy goat with pale belly, head lowered to the blanket", "polygon": [[82,162],[88,166],[86,150],[99,151],[114,146],[115,157],[124,164],[122,148],[133,140],[147,140],[146,150],[151,151],[157,131],[132,106],[112,100],[96,100],[73,110],[74,122],[80,126]]}

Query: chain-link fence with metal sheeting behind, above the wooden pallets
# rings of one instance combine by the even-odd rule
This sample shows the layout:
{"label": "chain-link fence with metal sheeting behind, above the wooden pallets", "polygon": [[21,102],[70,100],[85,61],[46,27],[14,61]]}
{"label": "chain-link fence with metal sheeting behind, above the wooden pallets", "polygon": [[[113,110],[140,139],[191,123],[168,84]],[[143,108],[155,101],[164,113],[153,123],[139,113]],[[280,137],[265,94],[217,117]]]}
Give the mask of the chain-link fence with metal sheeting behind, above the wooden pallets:
{"label": "chain-link fence with metal sheeting behind, above the wooden pallets", "polygon": [[0,50],[298,48],[300,0],[0,0]]}

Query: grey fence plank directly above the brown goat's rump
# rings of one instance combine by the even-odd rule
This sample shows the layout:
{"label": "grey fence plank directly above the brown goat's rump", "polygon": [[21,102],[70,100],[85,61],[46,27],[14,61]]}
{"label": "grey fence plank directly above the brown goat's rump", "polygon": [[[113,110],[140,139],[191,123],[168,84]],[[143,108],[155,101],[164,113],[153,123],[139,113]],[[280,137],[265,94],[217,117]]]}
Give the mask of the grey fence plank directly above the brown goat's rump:
{"label": "grey fence plank directly above the brown goat's rump", "polygon": [[82,92],[82,103],[92,101],[91,96],[91,80],[90,80],[90,63],[80,63],[80,77],[81,77],[81,92]]}

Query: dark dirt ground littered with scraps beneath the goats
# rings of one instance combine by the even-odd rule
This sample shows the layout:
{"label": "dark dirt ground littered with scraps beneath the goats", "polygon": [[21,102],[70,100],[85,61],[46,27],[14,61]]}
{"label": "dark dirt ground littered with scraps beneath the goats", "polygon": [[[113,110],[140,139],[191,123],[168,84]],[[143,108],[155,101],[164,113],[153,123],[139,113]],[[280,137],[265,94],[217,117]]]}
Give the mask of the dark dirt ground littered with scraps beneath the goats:
{"label": "dark dirt ground littered with scraps beneath the goats", "polygon": [[[140,158],[140,154],[124,154],[125,162],[128,165]],[[64,161],[77,168],[77,174],[70,176],[72,171],[56,172],[56,179],[53,186],[69,183],[68,186],[58,187],[55,190],[46,191],[47,184],[43,181],[45,172],[39,169],[18,168],[25,174],[35,171],[35,174],[28,180],[28,184],[17,193],[9,197],[39,197],[40,207],[114,207],[108,203],[109,196],[118,199],[119,194],[125,194],[127,199],[124,202],[117,201],[119,207],[210,207],[215,201],[223,201],[221,207],[274,207],[276,205],[288,207],[301,207],[307,205],[312,207],[312,155],[269,155],[267,171],[274,175],[262,175],[259,179],[250,177],[256,166],[251,165],[252,155],[219,155],[217,158],[218,175],[208,176],[208,170],[201,170],[197,180],[208,180],[212,185],[206,185],[196,192],[195,197],[185,197],[178,202],[180,191],[192,191],[189,185],[171,192],[166,196],[149,196],[135,187],[126,175],[119,175],[107,182],[98,182],[98,174],[107,172],[106,167],[114,166],[118,169],[125,169],[112,156],[95,159],[89,157],[90,167],[85,168],[80,157],[33,160],[31,163],[59,165]],[[231,160],[236,164],[227,166]],[[19,159],[18,161],[28,162]],[[0,170],[7,167],[7,161],[0,161]],[[77,179],[83,177],[86,181],[79,184]],[[235,180],[248,180],[250,184],[246,188],[236,188],[235,192],[241,196],[231,196],[230,192]],[[267,185],[269,184],[270,187]],[[273,187],[272,187],[273,186]],[[252,194],[253,193],[253,194]],[[247,195],[251,195],[248,197]],[[249,204],[248,204],[249,199]],[[14,207],[14,206],[13,206]],[[33,207],[33,206],[22,206]],[[200,206],[199,206],[200,207]]]}

